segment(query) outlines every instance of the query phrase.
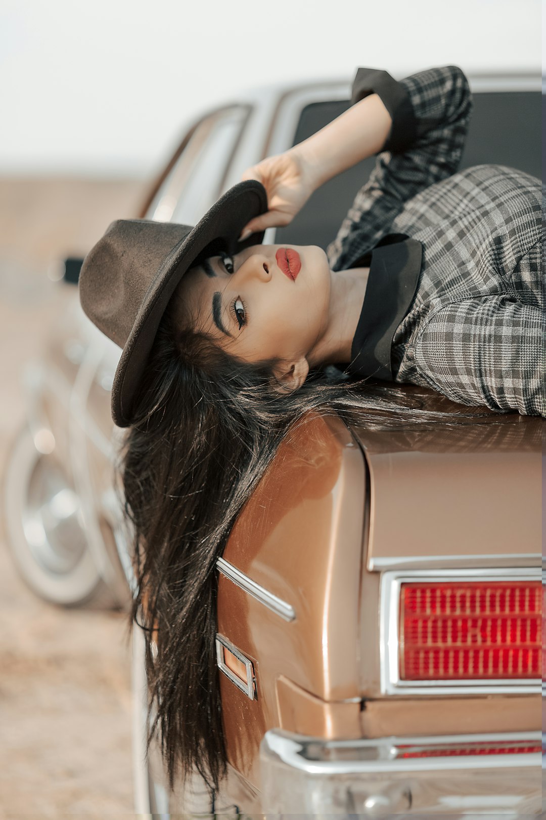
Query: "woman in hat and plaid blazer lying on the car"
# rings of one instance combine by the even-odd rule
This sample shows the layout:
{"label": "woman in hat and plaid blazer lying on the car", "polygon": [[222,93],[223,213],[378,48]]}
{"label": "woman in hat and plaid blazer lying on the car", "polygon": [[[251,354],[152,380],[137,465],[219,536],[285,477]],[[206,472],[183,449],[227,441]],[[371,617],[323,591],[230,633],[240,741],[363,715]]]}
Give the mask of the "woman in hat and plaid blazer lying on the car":
{"label": "woman in hat and plaid blazer lying on the car", "polygon": [[[85,312],[124,348],[112,416],[129,427],[120,476],[133,617],[155,639],[151,733],[171,784],[196,768],[214,789],[225,771],[215,562],[305,412],[376,426],[469,415],[426,412],[395,385],[353,375],[544,414],[539,180],[503,166],[456,173],[472,100],[455,66],[399,83],[359,69],[352,103],[250,168],[195,228],[117,221],[82,268]],[[261,244],[264,228],[286,225],[318,185],[372,153],[327,254]]]}

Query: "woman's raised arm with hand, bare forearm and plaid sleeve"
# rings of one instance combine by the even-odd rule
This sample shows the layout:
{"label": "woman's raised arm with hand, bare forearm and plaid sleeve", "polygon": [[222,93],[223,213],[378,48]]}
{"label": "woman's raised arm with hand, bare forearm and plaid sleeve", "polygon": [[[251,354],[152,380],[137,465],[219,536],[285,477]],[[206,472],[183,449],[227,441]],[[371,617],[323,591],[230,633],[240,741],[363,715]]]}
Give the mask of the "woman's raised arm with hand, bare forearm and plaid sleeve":
{"label": "woman's raised arm with hand, bare forearm and plaid sleeve", "polygon": [[458,66],[426,69],[399,81],[387,71],[359,68],[351,103],[309,139],[242,176],[262,182],[268,194],[268,212],[246,226],[252,232],[287,225],[316,188],[378,155],[327,248],[332,270],[343,270],[373,248],[408,199],[458,170],[472,115],[472,93]]}

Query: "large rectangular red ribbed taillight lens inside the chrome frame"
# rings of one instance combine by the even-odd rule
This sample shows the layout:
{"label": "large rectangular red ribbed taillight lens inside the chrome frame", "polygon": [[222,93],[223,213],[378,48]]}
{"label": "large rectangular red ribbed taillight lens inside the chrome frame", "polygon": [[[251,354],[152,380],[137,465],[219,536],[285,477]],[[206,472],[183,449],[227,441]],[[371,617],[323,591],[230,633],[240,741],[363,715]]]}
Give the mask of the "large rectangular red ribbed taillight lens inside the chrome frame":
{"label": "large rectangular red ribbed taillight lens inside the chrome frame", "polygon": [[402,584],[404,681],[541,675],[540,581]]}

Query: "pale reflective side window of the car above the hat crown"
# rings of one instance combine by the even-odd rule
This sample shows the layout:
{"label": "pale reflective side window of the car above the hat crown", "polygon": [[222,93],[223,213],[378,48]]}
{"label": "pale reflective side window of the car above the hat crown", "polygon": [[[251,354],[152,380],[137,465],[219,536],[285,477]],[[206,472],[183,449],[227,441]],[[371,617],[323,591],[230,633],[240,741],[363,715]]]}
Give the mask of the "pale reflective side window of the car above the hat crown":
{"label": "pale reflective side window of the car above the hat crown", "polygon": [[196,225],[219,197],[223,176],[247,116],[246,106],[231,106],[205,116],[196,125],[152,199],[148,219]]}

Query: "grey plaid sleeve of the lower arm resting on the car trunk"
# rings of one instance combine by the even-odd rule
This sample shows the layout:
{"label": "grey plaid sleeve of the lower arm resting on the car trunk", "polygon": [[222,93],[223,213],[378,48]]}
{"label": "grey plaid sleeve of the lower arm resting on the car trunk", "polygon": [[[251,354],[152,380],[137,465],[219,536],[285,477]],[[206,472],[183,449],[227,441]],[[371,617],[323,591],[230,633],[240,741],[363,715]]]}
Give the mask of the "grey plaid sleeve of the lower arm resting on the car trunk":
{"label": "grey plaid sleeve of the lower arm resting on the car trunk", "polygon": [[453,401],[546,416],[546,313],[505,295],[441,307],[417,337],[426,383]]}

